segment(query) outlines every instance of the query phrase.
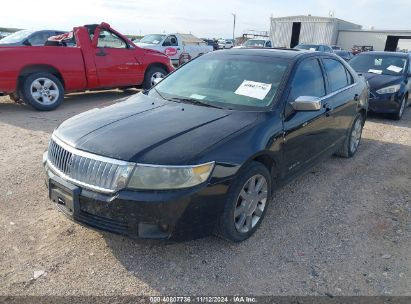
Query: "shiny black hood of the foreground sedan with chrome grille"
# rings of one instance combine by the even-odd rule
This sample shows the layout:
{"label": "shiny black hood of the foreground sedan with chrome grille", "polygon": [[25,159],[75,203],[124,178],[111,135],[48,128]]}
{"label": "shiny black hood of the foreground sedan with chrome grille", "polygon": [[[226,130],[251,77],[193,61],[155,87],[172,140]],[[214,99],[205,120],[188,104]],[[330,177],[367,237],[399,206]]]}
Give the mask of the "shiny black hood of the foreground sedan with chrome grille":
{"label": "shiny black hood of the foreground sedan with chrome grille", "polygon": [[[183,110],[184,109],[184,110]],[[150,164],[195,164],[202,153],[257,120],[258,113],[175,103],[137,94],[63,122],[54,135],[77,149]],[[211,160],[209,160],[211,161]]]}

